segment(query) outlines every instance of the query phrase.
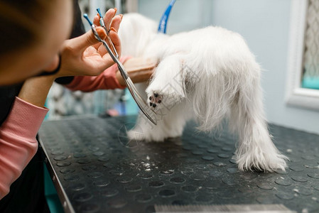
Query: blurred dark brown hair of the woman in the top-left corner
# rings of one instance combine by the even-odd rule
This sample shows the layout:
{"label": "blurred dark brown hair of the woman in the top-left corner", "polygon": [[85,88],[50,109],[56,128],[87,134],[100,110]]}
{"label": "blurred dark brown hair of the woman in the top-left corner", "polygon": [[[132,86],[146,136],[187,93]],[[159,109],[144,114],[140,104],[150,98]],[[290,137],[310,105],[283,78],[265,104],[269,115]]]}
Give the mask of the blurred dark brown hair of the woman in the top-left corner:
{"label": "blurred dark brown hair of the woman in the top-left corner", "polygon": [[36,43],[52,0],[0,0],[0,55]]}

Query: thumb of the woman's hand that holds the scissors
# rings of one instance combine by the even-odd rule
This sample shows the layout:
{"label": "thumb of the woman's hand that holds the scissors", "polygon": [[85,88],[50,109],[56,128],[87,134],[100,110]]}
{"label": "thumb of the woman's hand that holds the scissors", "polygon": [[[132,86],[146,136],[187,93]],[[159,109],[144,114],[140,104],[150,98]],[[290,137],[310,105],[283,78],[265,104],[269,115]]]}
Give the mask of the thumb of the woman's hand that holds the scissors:
{"label": "thumb of the woman's hand that holds the scissors", "polygon": [[[104,31],[104,28],[98,26],[95,29],[97,30],[97,34],[99,34],[100,38],[105,39],[107,37],[107,33]],[[96,43],[99,43],[99,41],[94,37],[94,33],[91,30],[77,38],[72,38],[69,45],[72,50],[82,53],[85,49]]]}

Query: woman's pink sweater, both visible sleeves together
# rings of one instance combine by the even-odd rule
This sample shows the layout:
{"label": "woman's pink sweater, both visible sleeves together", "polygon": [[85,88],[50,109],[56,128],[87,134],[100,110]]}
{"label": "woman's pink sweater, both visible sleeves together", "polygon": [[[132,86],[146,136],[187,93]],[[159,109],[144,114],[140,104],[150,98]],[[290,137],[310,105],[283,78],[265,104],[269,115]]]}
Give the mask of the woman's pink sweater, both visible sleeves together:
{"label": "woman's pink sweater, both visible sleeves together", "polygon": [[[121,58],[121,62],[127,59]],[[117,81],[116,72],[117,65],[112,65],[97,77],[75,77],[66,87],[84,92],[124,88]],[[10,185],[36,154],[36,134],[47,112],[46,108],[16,97],[9,116],[0,126],[0,200],[9,193]]]}

